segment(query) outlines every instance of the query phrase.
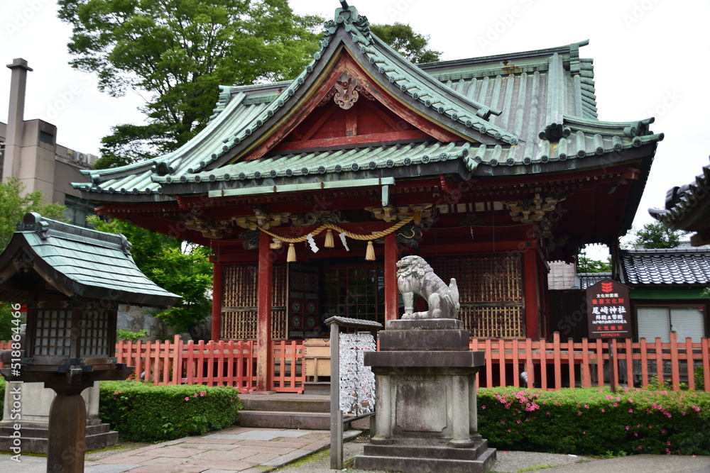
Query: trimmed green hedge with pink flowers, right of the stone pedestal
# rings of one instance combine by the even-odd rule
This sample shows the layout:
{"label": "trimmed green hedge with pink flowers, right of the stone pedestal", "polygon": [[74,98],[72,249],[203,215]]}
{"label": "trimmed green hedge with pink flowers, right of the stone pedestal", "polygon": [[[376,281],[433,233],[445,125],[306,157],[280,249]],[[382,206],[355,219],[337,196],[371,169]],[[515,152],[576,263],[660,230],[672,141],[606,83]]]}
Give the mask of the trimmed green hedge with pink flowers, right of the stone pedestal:
{"label": "trimmed green hedge with pink flowers, right of the stone pedestal", "polygon": [[479,390],[479,431],[492,447],[616,455],[710,455],[704,391]]}

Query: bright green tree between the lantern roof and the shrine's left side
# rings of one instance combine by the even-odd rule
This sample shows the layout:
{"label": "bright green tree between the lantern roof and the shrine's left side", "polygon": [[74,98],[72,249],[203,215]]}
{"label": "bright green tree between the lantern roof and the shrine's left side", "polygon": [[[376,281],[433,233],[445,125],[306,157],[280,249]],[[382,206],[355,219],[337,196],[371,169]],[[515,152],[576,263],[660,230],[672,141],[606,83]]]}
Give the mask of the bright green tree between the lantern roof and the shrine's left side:
{"label": "bright green tree between the lantern roof and the shrine's left side", "polygon": [[182,241],[119,219],[107,222],[92,216],[89,222],[103,232],[123,233],[133,245],[131,254],[138,269],[158,286],[182,296],[178,304],[156,313],[156,317],[175,333],[190,332],[204,322],[212,308],[206,295],[212,287],[212,263],[207,248],[187,245],[183,251]]}

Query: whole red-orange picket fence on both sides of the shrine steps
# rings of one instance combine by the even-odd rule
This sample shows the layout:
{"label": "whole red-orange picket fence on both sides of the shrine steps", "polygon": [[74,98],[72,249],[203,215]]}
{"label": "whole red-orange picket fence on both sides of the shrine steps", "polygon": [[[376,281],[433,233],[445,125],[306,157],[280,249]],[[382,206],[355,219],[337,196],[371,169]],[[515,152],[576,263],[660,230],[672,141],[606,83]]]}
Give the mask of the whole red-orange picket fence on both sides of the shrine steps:
{"label": "whole red-orange picket fence on both sides of the shrine steps", "polygon": [[[0,342],[0,350],[9,350]],[[300,340],[274,340],[270,344],[270,389],[281,392],[303,391],[304,348]],[[552,341],[473,339],[471,350],[486,352],[486,366],[477,374],[479,387],[526,386],[520,374],[528,375],[527,386],[560,389],[569,386],[615,385],[643,386],[670,381],[672,389],[681,383],[696,389],[694,369],[703,367],[704,388],[710,386],[710,347],[707,338],[700,343],[686,339],[680,343],[674,332],[670,343],[641,339],[582,340],[562,342],[559,333]],[[616,360],[616,362],[609,362]],[[176,336],[165,342],[119,342],[118,362],[135,366],[134,379],[155,384],[206,384],[235,386],[241,392],[256,387],[256,342],[212,341],[184,343]],[[0,363],[0,367],[2,364]],[[611,367],[611,373],[610,373]],[[612,378],[613,377],[613,378]]]}

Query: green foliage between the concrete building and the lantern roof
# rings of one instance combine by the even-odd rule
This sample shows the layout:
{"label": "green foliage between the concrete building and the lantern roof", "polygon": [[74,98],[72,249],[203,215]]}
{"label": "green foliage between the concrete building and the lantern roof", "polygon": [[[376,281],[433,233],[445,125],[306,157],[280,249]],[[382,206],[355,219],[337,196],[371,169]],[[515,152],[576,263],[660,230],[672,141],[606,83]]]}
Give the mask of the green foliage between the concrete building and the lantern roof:
{"label": "green foliage between the concrete building and the lantern roof", "polygon": [[65,221],[66,208],[62,204],[46,204],[42,191],[30,192],[22,196],[25,184],[14,177],[0,182],[0,249],[4,249],[18,222],[27,212],[37,212],[52,220]]}

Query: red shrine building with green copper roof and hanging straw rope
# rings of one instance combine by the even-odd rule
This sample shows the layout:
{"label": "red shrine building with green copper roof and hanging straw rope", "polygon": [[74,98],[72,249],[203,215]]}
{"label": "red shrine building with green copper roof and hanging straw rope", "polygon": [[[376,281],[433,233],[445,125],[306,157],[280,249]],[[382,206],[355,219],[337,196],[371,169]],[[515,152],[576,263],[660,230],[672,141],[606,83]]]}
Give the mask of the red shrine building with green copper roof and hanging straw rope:
{"label": "red shrine building with green copper roof and hanging straw rope", "polygon": [[604,243],[618,272],[663,139],[653,118],[597,119],[587,43],[414,65],[343,2],[293,81],[222,86],[182,148],[73,185],[99,215],[212,248],[213,340],[398,318],[410,254],[457,279],[471,337],[539,339],[547,262]]}

